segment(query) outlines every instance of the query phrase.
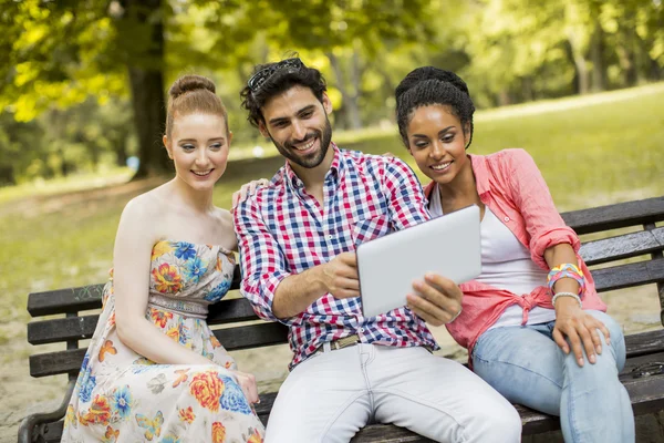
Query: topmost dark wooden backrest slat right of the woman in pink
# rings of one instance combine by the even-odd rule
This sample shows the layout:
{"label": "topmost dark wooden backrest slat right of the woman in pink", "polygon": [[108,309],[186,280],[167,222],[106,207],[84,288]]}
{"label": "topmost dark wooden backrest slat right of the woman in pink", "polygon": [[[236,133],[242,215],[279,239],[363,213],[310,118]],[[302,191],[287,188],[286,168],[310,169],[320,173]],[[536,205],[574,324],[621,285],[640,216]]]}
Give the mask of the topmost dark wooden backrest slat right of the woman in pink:
{"label": "topmost dark wooden backrest slat right of the woman in pink", "polygon": [[664,196],[561,214],[577,234],[645,225],[664,220]]}

